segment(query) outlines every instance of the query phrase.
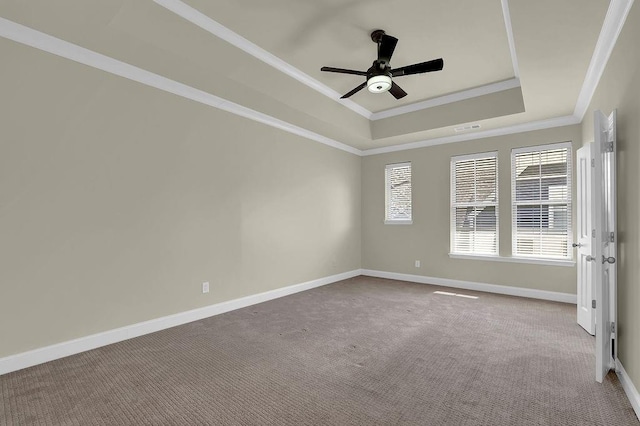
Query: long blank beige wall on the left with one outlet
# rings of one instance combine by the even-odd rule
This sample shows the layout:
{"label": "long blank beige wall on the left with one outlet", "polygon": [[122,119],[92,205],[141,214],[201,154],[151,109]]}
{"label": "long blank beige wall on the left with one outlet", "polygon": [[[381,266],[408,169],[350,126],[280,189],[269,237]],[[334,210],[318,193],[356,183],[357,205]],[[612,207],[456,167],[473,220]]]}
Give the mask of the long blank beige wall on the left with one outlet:
{"label": "long blank beige wall on the left with one outlet", "polygon": [[359,157],[0,52],[0,357],[360,267]]}

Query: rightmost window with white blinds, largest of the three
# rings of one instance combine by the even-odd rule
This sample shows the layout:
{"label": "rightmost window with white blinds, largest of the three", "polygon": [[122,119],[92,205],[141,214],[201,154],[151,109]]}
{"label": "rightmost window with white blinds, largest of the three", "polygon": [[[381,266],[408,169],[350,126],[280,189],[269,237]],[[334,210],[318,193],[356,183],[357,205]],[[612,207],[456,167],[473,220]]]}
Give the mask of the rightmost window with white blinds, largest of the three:
{"label": "rightmost window with white blinds, largest of the three", "polygon": [[511,151],[513,255],[571,259],[571,143]]}

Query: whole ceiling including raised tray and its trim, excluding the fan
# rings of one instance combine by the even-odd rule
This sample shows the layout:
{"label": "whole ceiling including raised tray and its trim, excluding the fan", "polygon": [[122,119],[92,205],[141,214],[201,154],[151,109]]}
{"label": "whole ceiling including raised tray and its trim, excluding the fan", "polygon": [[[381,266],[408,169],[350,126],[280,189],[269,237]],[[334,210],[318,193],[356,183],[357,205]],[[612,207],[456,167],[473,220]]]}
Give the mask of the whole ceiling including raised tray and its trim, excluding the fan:
{"label": "whole ceiling including raised tray and its trim, excluding the fan", "polygon": [[[3,0],[0,36],[112,73],[109,61],[130,64],[204,91],[223,109],[379,150],[454,140],[453,128],[469,122],[487,132],[574,116],[608,8],[603,0]],[[366,70],[377,28],[400,40],[392,66],[442,57],[444,70],[396,79],[409,93],[400,101],[366,90],[340,101],[363,78],[320,67]],[[79,48],[104,58],[83,62],[69,53]],[[141,81],[127,72],[116,74]],[[141,82],[159,87],[154,78]]]}

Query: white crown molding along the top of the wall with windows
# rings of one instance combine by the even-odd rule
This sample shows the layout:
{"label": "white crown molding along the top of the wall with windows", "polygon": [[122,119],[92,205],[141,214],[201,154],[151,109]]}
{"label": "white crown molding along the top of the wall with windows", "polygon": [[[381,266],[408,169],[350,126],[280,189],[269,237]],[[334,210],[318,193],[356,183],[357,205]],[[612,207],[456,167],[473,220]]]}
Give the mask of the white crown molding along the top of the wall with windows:
{"label": "white crown molding along the top of the wall with windows", "polygon": [[512,135],[514,133],[531,132],[533,130],[551,129],[553,127],[570,126],[578,124],[578,120],[573,115],[565,117],[550,118],[547,120],[532,121],[529,123],[516,124],[513,126],[501,127],[498,129],[483,130],[475,133],[466,133],[464,135],[444,136],[441,138],[426,139],[418,142],[411,142],[402,145],[386,146],[382,148],[367,149],[362,151],[362,156],[386,154],[389,152],[405,151],[408,149],[424,148],[434,145],[442,145],[454,142],[464,142],[469,140],[484,139],[494,136]]}

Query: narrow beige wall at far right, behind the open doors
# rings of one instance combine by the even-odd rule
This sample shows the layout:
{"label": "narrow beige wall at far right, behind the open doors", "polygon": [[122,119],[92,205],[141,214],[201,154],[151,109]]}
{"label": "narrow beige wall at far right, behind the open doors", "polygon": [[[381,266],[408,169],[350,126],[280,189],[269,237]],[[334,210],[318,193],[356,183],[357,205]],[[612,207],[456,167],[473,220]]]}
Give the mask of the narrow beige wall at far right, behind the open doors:
{"label": "narrow beige wall at far right, behind the open doors", "polygon": [[618,110],[618,357],[640,389],[640,4],[635,2],[582,131],[593,141],[593,112]]}

